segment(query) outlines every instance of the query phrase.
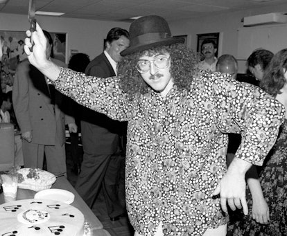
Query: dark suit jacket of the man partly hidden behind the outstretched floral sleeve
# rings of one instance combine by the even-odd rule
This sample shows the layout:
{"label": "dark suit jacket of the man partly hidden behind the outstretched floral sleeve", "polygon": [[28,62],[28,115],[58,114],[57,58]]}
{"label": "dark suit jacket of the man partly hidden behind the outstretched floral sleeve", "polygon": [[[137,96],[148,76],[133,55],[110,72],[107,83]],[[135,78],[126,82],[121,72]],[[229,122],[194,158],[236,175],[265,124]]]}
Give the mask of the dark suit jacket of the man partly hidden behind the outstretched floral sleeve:
{"label": "dark suit jacket of the man partly hidden behind the outstretched floral sleeve", "polygon": [[[100,78],[108,78],[116,76],[114,69],[105,53],[101,53],[92,62],[90,62],[85,70],[86,75],[93,75]],[[127,122],[119,122],[112,120],[104,114],[100,114],[91,109],[84,108],[82,111],[82,120],[95,125],[95,145],[98,154],[112,154],[119,147],[119,136],[125,133]]]}

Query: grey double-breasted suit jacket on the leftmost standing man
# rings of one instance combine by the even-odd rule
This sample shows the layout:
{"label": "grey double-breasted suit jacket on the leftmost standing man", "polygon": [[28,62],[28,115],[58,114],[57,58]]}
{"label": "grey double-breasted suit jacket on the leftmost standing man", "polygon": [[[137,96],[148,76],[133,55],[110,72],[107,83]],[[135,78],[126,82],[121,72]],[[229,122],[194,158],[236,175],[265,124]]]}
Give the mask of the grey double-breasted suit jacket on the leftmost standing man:
{"label": "grey double-breasted suit jacket on the leftmost standing man", "polygon": [[[64,62],[55,64],[67,67]],[[21,132],[32,131],[32,143],[55,145],[58,136],[60,145],[65,142],[65,124],[75,122],[61,110],[63,95],[55,91],[55,105],[51,103],[48,84],[44,75],[28,60],[16,69],[12,91],[12,102]],[[55,110],[55,111],[54,111]]]}

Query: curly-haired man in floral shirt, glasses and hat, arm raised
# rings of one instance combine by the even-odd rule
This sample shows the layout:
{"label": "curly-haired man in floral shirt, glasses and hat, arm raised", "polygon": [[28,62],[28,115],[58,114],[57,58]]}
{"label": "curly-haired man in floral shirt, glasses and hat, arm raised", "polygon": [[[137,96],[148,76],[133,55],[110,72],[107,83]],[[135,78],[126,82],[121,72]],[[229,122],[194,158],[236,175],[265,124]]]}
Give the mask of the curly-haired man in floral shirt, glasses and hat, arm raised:
{"label": "curly-haired man in floral shirt, glasses and hat, arm raised", "polygon": [[[30,36],[30,31],[27,32]],[[284,107],[257,87],[197,71],[196,55],[162,17],[130,26],[117,78],[62,69],[44,57],[40,26],[26,38],[31,64],[67,96],[128,121],[126,201],[135,235],[225,235],[227,203],[243,208],[245,172],[262,165]],[[242,143],[227,170],[227,133]],[[220,208],[221,206],[221,208]]]}

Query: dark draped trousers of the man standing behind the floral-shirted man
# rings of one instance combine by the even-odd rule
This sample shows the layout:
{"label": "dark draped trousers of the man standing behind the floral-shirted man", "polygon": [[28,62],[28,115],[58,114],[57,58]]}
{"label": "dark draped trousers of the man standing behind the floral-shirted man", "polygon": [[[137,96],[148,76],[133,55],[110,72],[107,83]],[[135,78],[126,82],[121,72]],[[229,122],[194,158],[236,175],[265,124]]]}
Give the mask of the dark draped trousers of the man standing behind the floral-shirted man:
{"label": "dark draped trousers of the man standing behind the floral-shirted man", "polygon": [[[87,122],[82,122],[83,160],[81,172],[76,182],[76,190],[92,208],[98,193],[103,189],[107,213],[110,217],[117,217],[125,212],[124,185],[120,184],[123,170],[123,156],[120,149],[114,154],[96,154],[94,151],[94,138],[90,138]],[[87,126],[87,127],[85,127]],[[121,189],[120,189],[121,188]],[[123,190],[122,190],[123,188]]]}

